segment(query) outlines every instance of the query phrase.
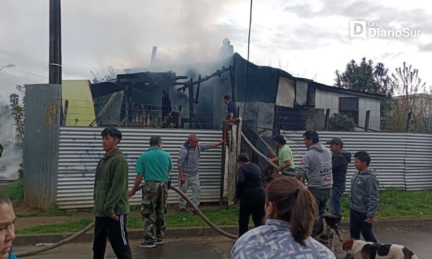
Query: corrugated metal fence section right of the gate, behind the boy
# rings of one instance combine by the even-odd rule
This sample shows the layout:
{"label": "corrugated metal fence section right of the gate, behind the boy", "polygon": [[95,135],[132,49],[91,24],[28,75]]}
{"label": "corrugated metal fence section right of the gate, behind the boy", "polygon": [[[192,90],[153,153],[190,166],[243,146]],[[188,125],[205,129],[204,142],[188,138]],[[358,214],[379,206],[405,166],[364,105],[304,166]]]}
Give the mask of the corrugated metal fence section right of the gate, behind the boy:
{"label": "corrugated metal fence section right of the gate, behind the boy", "polygon": [[[294,155],[297,166],[306,152],[304,131],[282,131]],[[340,137],[344,148],[352,155],[367,151],[372,160],[370,168],[378,170],[380,188],[406,188],[419,190],[432,188],[432,135],[418,133],[384,132],[318,132],[319,140],[326,147],[332,137]],[[347,190],[354,174],[354,157],[349,164]]]}

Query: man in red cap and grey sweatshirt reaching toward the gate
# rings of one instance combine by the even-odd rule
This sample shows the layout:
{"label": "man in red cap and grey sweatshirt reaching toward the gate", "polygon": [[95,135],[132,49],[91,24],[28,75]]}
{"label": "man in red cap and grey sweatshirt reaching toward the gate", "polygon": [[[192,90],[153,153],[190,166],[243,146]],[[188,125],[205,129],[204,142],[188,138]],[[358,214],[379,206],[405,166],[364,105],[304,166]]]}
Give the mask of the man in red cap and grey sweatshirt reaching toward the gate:
{"label": "man in red cap and grey sweatshirt reaching toward the gate", "polygon": [[[225,140],[221,140],[216,143],[198,143],[201,140],[197,135],[191,134],[187,138],[187,141],[183,143],[179,151],[179,158],[177,165],[179,167],[179,184],[180,190],[184,193],[192,188],[192,202],[195,206],[199,206],[199,192],[201,187],[199,186],[199,153],[204,150],[218,147],[222,145]],[[186,201],[179,195],[180,212],[186,212]],[[191,210],[192,214],[197,214],[195,210]]]}

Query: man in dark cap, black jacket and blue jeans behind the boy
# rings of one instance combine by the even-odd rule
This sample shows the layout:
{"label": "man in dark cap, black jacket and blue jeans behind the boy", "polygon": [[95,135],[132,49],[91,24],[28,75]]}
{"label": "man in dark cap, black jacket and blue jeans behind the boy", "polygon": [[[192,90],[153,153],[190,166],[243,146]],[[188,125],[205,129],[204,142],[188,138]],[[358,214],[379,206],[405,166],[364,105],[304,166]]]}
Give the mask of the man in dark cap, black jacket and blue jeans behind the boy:
{"label": "man in dark cap, black jacket and blue jeans behind the boy", "polygon": [[342,219],[341,200],[342,194],[345,191],[347,169],[348,163],[351,162],[351,153],[343,149],[344,141],[342,141],[342,138],[332,138],[327,144],[330,144],[330,150],[333,152],[333,186],[332,193],[330,194],[330,207],[332,207],[332,213],[339,218],[338,224],[340,225]]}

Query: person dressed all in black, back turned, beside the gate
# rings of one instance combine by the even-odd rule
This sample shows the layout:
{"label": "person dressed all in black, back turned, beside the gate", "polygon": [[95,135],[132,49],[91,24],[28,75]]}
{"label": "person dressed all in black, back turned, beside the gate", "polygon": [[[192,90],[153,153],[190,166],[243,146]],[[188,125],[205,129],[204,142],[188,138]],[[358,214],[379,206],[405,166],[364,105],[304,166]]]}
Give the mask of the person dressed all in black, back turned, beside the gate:
{"label": "person dressed all in black, back turned, beside the gate", "polygon": [[239,168],[237,170],[237,188],[235,196],[240,199],[240,211],[238,213],[238,237],[248,231],[249,216],[255,227],[263,225],[266,215],[264,206],[266,204],[266,190],[263,186],[261,168],[250,163],[247,154],[237,157]]}

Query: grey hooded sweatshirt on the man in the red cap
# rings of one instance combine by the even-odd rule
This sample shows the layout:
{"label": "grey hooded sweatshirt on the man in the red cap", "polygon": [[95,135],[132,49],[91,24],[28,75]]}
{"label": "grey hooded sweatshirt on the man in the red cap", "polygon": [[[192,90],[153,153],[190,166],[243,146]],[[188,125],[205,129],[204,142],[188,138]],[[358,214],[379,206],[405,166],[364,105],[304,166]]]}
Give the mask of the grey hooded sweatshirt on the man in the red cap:
{"label": "grey hooded sweatshirt on the man in the red cap", "polygon": [[198,146],[194,148],[189,147],[187,141],[183,143],[179,151],[177,165],[183,167],[184,176],[195,176],[198,174],[199,153],[208,149],[210,149],[210,143],[198,143]]}

